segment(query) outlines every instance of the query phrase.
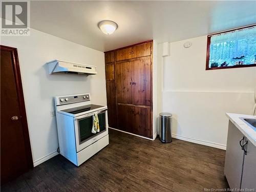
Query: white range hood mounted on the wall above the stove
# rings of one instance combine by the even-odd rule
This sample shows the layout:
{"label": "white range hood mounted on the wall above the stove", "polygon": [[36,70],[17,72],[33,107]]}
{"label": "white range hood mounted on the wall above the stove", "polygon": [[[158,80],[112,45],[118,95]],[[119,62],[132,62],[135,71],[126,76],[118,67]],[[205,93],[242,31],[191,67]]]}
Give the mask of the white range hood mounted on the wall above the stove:
{"label": "white range hood mounted on the wall above the stove", "polygon": [[53,73],[73,73],[73,74],[86,74],[95,75],[96,66],[84,65],[75,62],[52,60],[47,62],[49,74]]}

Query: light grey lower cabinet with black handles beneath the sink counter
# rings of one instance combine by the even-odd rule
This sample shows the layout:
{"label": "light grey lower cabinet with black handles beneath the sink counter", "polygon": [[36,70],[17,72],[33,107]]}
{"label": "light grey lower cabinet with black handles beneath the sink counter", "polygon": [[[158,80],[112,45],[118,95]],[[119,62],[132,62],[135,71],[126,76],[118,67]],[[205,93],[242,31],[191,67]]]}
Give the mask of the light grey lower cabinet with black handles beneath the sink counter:
{"label": "light grey lower cabinet with black handles beneath the sink counter", "polygon": [[228,123],[224,175],[235,191],[241,188],[256,190],[256,147],[231,121]]}

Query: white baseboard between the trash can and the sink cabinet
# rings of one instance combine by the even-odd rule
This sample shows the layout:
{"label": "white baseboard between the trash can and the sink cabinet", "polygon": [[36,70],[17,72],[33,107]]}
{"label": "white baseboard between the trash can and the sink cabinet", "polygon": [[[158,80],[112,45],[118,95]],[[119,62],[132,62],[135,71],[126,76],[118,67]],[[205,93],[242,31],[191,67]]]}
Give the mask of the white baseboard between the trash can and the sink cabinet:
{"label": "white baseboard between the trash can and the sink cabinet", "polygon": [[195,139],[195,138],[191,138],[191,137],[180,136],[180,135],[176,135],[176,134],[173,134],[173,138],[188,141],[188,142],[191,142],[191,143],[197,143],[197,144],[201,144],[201,145],[220,148],[221,150],[226,150],[226,145],[219,144],[219,143],[204,141],[204,140]]}

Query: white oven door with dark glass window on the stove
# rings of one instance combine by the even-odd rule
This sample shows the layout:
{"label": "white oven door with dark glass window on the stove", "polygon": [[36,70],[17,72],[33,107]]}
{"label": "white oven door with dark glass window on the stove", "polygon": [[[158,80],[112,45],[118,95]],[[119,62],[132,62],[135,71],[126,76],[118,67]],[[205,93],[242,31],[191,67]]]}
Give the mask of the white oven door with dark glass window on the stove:
{"label": "white oven door with dark glass window on the stove", "polygon": [[74,119],[76,135],[76,152],[79,152],[91,145],[95,141],[109,134],[108,130],[108,111],[97,111],[99,119],[99,130],[96,134],[92,133],[94,113],[82,115]]}

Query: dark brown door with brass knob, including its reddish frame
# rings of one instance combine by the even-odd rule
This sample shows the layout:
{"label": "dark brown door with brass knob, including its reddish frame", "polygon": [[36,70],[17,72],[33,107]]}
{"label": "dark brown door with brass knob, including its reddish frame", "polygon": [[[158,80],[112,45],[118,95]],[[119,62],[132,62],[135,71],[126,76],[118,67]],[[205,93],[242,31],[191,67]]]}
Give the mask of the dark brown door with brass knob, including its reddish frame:
{"label": "dark brown door with brass knob, including its reddish frame", "polygon": [[1,46],[1,184],[32,167],[17,50]]}

